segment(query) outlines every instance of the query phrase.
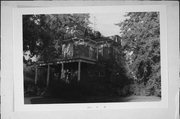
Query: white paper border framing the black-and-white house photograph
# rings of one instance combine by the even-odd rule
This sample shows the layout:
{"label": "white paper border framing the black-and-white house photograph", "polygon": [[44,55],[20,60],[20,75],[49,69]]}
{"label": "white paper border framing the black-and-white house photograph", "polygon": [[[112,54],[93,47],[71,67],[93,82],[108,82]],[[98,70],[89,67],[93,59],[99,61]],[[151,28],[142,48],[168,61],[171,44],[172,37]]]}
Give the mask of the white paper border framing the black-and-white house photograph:
{"label": "white paper border framing the black-and-white house photograph", "polygon": [[[28,14],[64,13],[160,13],[160,54],[161,54],[161,101],[158,102],[113,102],[74,104],[24,104],[23,89],[23,30],[22,16]],[[120,5],[120,6],[76,6],[14,8],[13,10],[13,67],[14,67],[14,111],[57,111],[57,110],[101,110],[168,108],[168,61],[167,61],[167,16],[165,5]]]}

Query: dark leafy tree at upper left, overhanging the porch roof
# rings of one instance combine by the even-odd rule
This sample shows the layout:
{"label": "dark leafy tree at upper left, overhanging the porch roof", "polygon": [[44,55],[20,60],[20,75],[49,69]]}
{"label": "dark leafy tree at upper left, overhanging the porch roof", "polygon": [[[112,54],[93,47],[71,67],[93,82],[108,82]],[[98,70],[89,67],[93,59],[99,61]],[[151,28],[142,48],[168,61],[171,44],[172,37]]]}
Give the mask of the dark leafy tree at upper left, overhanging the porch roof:
{"label": "dark leafy tree at upper left, overhanging the porch roof", "polygon": [[29,52],[30,59],[56,59],[61,54],[62,41],[85,37],[89,24],[89,14],[24,15],[23,52]]}

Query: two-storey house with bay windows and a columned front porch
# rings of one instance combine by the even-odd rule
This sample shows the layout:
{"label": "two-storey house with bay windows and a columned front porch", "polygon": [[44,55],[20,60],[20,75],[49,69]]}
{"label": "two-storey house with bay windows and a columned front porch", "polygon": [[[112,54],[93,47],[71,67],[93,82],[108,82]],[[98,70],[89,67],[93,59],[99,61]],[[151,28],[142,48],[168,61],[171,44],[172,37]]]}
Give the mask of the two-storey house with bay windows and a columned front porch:
{"label": "two-storey house with bay windows and a columned front porch", "polygon": [[37,62],[35,84],[38,83],[38,72],[42,69],[47,72],[46,86],[49,85],[51,78],[71,83],[71,81],[82,82],[105,77],[104,66],[97,66],[97,62],[111,58],[110,54],[117,50],[114,47],[116,45],[112,47],[112,44],[117,44],[116,40],[110,38],[96,41],[90,38],[64,40],[59,59]]}

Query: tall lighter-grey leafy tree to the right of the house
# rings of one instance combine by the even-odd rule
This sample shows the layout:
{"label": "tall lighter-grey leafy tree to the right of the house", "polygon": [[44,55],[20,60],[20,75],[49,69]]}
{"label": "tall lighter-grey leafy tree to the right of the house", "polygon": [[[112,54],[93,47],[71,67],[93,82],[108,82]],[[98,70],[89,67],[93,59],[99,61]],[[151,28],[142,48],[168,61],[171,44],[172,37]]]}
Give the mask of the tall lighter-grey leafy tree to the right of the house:
{"label": "tall lighter-grey leafy tree to the right of the house", "polygon": [[123,50],[134,82],[146,95],[161,95],[160,24],[158,12],[130,12],[120,27]]}

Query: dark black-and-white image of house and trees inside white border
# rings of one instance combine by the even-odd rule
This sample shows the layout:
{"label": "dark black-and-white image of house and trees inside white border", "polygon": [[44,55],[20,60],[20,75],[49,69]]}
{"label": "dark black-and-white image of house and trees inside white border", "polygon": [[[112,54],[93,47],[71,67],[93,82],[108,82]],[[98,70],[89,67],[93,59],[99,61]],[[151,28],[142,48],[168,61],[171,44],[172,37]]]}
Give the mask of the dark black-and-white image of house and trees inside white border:
{"label": "dark black-and-white image of house and trees inside white border", "polygon": [[24,104],[161,101],[160,13],[22,15]]}

